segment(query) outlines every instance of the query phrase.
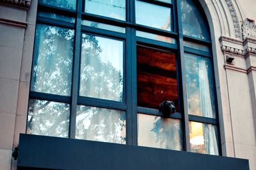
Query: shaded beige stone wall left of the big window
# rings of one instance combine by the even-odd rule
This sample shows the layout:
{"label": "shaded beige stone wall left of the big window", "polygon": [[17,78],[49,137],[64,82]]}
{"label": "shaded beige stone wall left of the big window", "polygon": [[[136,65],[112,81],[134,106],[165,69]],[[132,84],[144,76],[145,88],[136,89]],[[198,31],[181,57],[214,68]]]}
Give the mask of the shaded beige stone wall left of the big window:
{"label": "shaded beige stone wall left of the big window", "polygon": [[1,170],[10,169],[11,162],[14,163],[12,169],[16,169],[12,150],[19,143],[19,133],[26,130],[36,6],[37,1],[33,1],[27,11],[26,6],[0,4]]}

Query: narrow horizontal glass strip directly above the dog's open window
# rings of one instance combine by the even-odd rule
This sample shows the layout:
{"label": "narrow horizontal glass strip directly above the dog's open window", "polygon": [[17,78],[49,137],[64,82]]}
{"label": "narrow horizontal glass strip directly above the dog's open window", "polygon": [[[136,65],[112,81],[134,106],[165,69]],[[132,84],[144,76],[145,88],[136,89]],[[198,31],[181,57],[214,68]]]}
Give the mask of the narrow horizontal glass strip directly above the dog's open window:
{"label": "narrow horizontal glass strip directly above the dog's open window", "polygon": [[170,38],[168,36],[162,36],[162,35],[155,35],[152,33],[146,33],[143,31],[136,31],[136,36],[140,36],[143,38],[149,38],[149,39],[157,40],[157,41],[161,41],[161,42],[176,43],[176,40],[174,38]]}

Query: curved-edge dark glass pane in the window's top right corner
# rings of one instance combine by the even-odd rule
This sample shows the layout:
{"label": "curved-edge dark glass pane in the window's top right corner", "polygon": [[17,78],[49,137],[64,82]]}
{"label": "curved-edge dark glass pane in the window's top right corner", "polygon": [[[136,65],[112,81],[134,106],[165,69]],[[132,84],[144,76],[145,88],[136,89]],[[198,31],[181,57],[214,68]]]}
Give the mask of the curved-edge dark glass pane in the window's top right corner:
{"label": "curved-edge dark glass pane in the window's top right corner", "polygon": [[183,34],[202,40],[210,40],[207,20],[202,17],[200,10],[193,0],[181,0],[180,6]]}

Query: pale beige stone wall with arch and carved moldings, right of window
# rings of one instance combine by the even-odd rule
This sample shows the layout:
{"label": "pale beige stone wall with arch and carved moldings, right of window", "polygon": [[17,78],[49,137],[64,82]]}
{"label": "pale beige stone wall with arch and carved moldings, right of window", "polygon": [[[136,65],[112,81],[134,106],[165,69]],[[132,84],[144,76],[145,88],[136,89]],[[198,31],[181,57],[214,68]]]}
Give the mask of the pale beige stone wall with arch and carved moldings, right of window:
{"label": "pale beige stone wall with arch and carved moldings, right of window", "polygon": [[[241,29],[246,18],[256,20],[256,1],[249,1],[205,0],[201,3],[214,36],[212,44],[223,155],[248,158],[250,169],[255,170],[256,52],[253,49],[256,48],[256,34],[253,35],[252,28],[245,27],[250,30],[246,37]],[[234,61],[227,63],[227,56]]]}

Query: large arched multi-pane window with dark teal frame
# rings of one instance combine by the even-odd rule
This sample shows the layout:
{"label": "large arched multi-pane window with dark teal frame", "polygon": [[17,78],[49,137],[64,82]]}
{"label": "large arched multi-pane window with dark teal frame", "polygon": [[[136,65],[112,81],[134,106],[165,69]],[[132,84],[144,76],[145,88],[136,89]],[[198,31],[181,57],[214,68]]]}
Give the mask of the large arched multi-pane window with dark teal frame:
{"label": "large arched multi-pane window with dark teal frame", "polygon": [[[202,11],[193,0],[40,0],[27,133],[221,155]],[[164,100],[176,108],[167,117]]]}

